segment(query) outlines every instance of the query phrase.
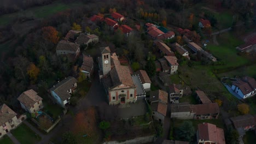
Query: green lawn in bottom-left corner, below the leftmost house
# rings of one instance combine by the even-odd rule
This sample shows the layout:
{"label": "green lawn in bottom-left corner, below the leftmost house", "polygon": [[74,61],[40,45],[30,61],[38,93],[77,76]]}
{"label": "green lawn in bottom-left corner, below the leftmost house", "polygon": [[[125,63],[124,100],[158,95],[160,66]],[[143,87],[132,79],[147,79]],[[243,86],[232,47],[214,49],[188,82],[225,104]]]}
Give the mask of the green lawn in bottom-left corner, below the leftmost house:
{"label": "green lawn in bottom-left corner, below the leftmost house", "polygon": [[41,137],[36,135],[36,133],[25,124],[21,124],[18,128],[11,131],[11,134],[13,134],[21,144],[34,144],[41,140]]}

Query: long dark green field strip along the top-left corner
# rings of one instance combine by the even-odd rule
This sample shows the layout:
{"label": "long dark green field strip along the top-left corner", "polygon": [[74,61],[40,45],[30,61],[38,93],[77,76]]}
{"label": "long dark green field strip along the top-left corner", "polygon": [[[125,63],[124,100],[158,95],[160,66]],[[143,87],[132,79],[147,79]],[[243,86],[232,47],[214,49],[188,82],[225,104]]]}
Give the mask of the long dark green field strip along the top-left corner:
{"label": "long dark green field strip along the top-left corner", "polygon": [[56,1],[49,5],[43,5],[39,7],[33,7],[22,12],[6,14],[0,16],[0,25],[7,25],[11,20],[14,20],[19,16],[32,16],[36,18],[44,18],[50,15],[56,14],[60,11],[67,10],[74,7],[81,7],[82,3],[76,2],[71,4],[65,4],[59,1]]}

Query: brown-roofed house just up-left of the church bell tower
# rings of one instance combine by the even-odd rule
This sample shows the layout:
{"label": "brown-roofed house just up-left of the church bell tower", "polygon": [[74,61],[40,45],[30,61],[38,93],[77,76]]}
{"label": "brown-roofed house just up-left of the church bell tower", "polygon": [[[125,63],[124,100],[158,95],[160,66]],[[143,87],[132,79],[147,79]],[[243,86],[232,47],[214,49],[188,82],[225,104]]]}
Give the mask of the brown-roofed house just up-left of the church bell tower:
{"label": "brown-roofed house just up-left of the church bell tower", "polygon": [[86,46],[88,46],[90,43],[96,44],[98,43],[98,36],[95,34],[80,34],[75,40],[75,43]]}

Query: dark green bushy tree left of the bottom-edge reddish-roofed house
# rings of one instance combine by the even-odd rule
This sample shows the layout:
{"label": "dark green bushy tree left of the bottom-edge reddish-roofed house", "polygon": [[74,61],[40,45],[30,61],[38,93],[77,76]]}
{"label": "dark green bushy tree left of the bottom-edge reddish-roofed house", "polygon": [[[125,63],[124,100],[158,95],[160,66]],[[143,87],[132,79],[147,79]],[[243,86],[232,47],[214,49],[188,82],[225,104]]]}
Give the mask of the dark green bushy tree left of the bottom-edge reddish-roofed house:
{"label": "dark green bushy tree left of the bottom-edge reddish-roofed house", "polygon": [[195,129],[190,121],[184,121],[181,127],[176,130],[178,140],[191,141],[194,135]]}

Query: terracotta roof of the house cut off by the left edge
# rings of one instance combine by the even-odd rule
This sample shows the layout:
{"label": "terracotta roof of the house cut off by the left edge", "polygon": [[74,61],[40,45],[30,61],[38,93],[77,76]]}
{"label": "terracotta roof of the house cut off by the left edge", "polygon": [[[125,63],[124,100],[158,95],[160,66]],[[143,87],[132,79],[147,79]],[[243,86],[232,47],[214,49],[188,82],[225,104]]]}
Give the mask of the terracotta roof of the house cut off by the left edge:
{"label": "terracotta roof of the house cut off by the left edge", "polygon": [[3,104],[0,106],[0,125],[8,122],[9,119],[15,117],[17,114],[10,109],[7,105]]}

